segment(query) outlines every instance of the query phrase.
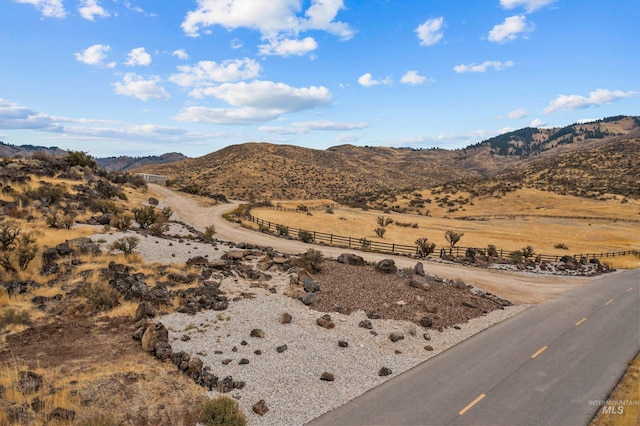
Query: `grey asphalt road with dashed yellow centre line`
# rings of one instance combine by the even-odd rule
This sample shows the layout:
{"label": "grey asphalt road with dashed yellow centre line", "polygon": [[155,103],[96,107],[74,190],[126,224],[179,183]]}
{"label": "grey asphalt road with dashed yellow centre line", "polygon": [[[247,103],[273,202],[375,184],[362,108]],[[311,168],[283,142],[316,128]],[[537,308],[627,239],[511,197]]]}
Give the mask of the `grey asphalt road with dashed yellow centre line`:
{"label": "grey asphalt road with dashed yellow centre line", "polygon": [[638,351],[636,269],[497,324],[310,425],[586,425]]}

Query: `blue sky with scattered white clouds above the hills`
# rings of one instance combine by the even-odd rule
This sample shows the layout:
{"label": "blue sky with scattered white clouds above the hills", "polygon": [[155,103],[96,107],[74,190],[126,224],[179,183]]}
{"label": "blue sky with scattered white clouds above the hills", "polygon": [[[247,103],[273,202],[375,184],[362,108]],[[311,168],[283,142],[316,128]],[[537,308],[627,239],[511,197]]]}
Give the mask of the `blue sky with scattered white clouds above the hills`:
{"label": "blue sky with scattered white clouds above the hills", "polygon": [[454,149],[640,115],[637,0],[2,0],[0,140]]}

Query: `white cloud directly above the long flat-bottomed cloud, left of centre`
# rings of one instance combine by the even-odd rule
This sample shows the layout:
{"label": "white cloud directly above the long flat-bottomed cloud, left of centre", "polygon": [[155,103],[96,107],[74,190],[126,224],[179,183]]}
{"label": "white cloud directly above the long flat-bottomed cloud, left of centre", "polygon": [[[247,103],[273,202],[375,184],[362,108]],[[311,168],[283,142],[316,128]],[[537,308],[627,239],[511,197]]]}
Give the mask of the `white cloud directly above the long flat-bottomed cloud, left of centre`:
{"label": "white cloud directly above the long flat-bottomed cloud, left of centre", "polygon": [[196,65],[177,67],[178,74],[169,77],[169,81],[182,87],[210,86],[214,83],[228,83],[248,80],[260,75],[261,67],[253,59],[233,59],[222,63],[200,61]]}

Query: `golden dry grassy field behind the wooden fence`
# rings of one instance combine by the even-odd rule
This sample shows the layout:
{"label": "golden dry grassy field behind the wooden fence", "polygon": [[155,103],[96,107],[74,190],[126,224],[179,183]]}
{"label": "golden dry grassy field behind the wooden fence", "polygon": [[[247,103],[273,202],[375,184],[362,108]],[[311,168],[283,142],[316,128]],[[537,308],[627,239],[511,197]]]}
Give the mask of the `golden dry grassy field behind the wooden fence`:
{"label": "golden dry grassy field behind the wooden fence", "polygon": [[[464,196],[464,194],[460,194]],[[299,204],[326,204],[326,200],[316,202],[281,203],[282,207],[296,208]],[[282,212],[257,209],[253,215],[274,223],[287,224],[295,228],[320,231],[334,235],[367,238],[372,241],[413,245],[420,237],[427,237],[437,248],[448,247],[444,234],[448,230],[464,233],[458,243],[464,247],[487,247],[518,250],[532,246],[536,253],[550,255],[587,254],[617,252],[640,249],[640,223],[622,221],[602,221],[591,219],[562,219],[553,217],[524,217],[483,220],[461,220],[461,216],[481,215],[563,215],[608,217],[620,219],[640,219],[640,203],[630,200],[597,201],[573,196],[561,196],[533,189],[521,189],[500,198],[476,199],[467,204],[464,211],[455,215],[436,207],[430,216],[424,214],[400,214],[394,212],[335,207],[333,213],[324,210],[302,212]],[[383,238],[375,233],[377,218],[390,217],[394,223],[385,227]],[[417,227],[402,227],[397,223],[417,224]],[[557,245],[567,248],[556,248]],[[633,256],[608,258],[604,262],[614,267],[631,268],[640,266],[640,259]]]}

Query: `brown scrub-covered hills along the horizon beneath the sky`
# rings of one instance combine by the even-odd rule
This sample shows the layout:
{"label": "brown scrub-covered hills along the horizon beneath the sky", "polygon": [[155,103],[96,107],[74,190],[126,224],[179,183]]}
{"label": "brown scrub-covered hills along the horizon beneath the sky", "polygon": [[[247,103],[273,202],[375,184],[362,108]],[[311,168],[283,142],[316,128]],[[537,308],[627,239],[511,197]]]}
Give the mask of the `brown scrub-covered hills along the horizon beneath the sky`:
{"label": "brown scrub-covered hills along the horizon beneath the sky", "polygon": [[[611,182],[633,184],[622,176],[638,174],[638,169],[634,169],[637,161],[629,156],[640,154],[633,142],[635,139],[632,139],[639,134],[639,117],[617,116],[562,128],[524,128],[458,150],[353,145],[315,150],[248,142],[199,158],[140,170],[168,175],[168,184],[172,188],[201,195],[224,194],[247,201],[331,198],[349,204],[363,204],[381,196],[446,182],[490,179],[507,172],[517,174],[543,159],[561,154],[570,156],[572,153],[577,153],[578,158],[578,153],[618,141],[620,145],[612,145],[611,150],[603,148],[597,155],[580,156],[582,171],[575,174],[591,176],[589,188],[600,186],[607,191],[615,191],[615,185],[598,184],[607,176],[596,173],[602,169],[602,164],[590,161],[598,158],[612,166],[607,169],[616,176]],[[629,149],[625,148],[624,140],[631,141]],[[613,155],[616,149],[622,152],[622,157]],[[569,173],[568,167],[560,167],[561,163],[550,160],[544,164],[547,167],[555,164],[562,173]],[[545,167],[544,164],[540,167]],[[566,164],[570,165],[570,162]],[[594,173],[590,174],[589,168]],[[537,175],[553,173],[553,170],[544,173],[540,170]],[[532,176],[527,176],[531,181]],[[525,178],[524,175],[521,177]],[[568,175],[548,186],[562,191],[558,189],[559,182],[567,183],[571,179]]]}

